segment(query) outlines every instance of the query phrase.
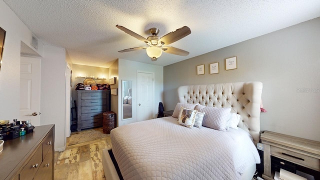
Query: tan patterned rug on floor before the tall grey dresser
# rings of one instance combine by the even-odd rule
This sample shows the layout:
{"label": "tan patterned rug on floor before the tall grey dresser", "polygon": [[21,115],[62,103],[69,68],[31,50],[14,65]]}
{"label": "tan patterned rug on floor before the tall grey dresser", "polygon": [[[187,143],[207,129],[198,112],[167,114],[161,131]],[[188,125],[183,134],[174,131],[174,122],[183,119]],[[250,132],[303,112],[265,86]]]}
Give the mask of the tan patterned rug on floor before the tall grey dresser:
{"label": "tan patterned rug on floor before the tall grey dresser", "polygon": [[72,132],[69,137],[66,138],[67,147],[74,145],[85,145],[95,140],[109,139],[110,134],[104,134],[102,128],[95,128],[89,130],[83,130],[80,132]]}

